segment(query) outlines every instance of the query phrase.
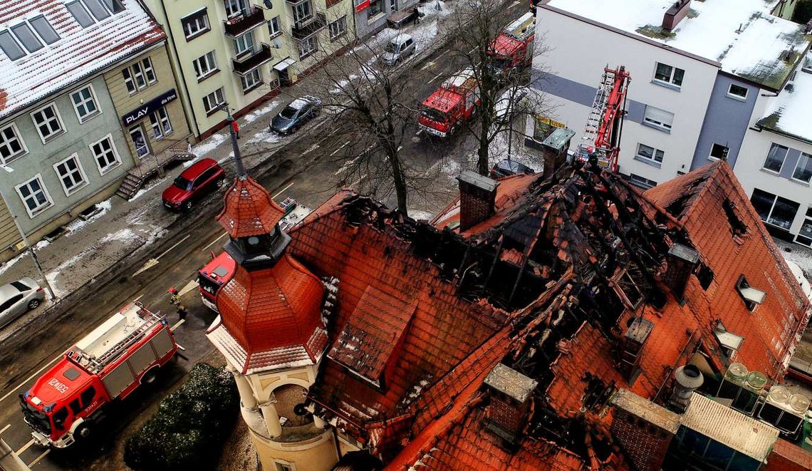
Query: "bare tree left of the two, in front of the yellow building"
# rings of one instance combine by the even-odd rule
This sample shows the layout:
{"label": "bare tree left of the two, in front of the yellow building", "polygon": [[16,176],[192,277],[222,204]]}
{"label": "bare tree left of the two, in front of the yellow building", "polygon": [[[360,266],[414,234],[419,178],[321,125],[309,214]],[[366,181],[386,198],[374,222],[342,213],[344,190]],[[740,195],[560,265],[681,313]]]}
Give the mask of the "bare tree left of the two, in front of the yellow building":
{"label": "bare tree left of the two, in front of the yellow building", "polygon": [[312,76],[313,93],[322,97],[336,132],[348,139],[348,145],[333,156],[343,164],[342,183],[357,181],[378,197],[394,192],[398,209],[405,214],[409,192],[422,188],[421,173],[401,153],[408,124],[417,112],[416,97],[412,70],[383,63],[379,58],[383,46],[365,41],[326,59]]}

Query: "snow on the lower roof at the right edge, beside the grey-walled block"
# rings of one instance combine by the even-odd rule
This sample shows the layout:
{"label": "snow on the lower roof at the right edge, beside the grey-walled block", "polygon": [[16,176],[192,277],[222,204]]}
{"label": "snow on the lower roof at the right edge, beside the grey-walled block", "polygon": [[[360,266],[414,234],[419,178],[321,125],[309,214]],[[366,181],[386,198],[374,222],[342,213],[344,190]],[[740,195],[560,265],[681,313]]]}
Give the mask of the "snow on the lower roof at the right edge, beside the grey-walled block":
{"label": "snow on the lower roof at the right edge, beside the grey-walled block", "polygon": [[782,134],[812,142],[812,73],[797,72],[792,89],[781,90],[771,98],[758,124]]}

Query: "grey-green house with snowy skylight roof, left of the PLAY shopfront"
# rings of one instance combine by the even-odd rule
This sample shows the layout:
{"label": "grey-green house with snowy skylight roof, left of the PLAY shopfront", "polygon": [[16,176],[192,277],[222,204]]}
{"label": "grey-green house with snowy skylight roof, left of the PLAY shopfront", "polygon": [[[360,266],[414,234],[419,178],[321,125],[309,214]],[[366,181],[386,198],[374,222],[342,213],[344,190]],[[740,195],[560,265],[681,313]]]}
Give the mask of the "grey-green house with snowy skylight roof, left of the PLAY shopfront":
{"label": "grey-green house with snowy skylight roof, left of the PLAY shopfront", "polygon": [[37,242],[135,165],[105,75],[163,41],[136,0],[0,0],[0,260],[15,218]]}

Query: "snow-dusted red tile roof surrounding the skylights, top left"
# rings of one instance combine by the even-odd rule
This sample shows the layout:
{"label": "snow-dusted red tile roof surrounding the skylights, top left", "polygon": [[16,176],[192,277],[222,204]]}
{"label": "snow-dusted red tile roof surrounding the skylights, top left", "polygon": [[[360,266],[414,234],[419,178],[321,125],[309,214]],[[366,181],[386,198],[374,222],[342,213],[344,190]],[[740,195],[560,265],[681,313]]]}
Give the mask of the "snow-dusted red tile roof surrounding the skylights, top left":
{"label": "snow-dusted red tile roof surrounding the skylights, top left", "polygon": [[59,39],[11,61],[0,50],[0,119],[102,70],[166,36],[136,0],[82,28],[61,0],[0,0],[0,31],[45,15]]}

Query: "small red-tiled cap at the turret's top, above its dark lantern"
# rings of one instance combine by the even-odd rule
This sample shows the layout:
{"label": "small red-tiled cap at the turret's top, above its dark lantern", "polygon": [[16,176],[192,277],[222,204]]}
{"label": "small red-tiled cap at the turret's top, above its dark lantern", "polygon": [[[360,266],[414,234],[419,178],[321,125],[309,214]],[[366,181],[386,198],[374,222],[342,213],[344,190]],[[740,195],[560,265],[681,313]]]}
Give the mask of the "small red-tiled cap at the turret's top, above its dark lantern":
{"label": "small red-tiled cap at the turret's top, above its dark lantern", "polygon": [[285,211],[252,178],[235,178],[228,188],[217,221],[232,239],[270,234]]}

